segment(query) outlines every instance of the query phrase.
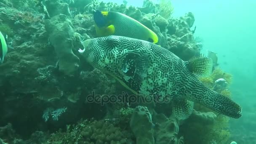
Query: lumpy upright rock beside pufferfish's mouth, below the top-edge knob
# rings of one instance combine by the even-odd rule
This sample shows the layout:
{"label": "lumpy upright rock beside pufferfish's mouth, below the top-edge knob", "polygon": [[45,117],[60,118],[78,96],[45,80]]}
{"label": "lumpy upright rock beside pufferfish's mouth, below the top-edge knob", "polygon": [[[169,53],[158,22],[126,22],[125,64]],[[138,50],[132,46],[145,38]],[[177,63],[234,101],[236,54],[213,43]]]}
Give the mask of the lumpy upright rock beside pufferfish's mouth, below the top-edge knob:
{"label": "lumpy upright rock beside pufferfish's mouth, below the top-edge knob", "polygon": [[59,71],[69,76],[75,74],[80,62],[72,51],[75,37],[73,27],[72,22],[63,14],[54,16],[51,20],[45,20],[45,29],[48,32],[49,40],[59,58]]}

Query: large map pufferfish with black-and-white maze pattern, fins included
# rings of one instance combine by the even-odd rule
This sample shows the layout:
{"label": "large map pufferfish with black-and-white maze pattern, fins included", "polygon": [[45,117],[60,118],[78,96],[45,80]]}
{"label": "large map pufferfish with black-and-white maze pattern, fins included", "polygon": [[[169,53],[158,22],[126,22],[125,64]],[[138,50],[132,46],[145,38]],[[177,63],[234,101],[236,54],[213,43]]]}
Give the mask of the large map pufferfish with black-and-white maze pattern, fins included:
{"label": "large map pufferfish with black-and-white maze pattern, fins included", "polygon": [[210,58],[183,61],[159,45],[113,35],[85,40],[83,46],[79,52],[93,67],[115,77],[133,93],[168,96],[174,102],[174,116],[180,119],[189,117],[193,102],[228,117],[242,116],[240,105],[198,80],[211,71]]}

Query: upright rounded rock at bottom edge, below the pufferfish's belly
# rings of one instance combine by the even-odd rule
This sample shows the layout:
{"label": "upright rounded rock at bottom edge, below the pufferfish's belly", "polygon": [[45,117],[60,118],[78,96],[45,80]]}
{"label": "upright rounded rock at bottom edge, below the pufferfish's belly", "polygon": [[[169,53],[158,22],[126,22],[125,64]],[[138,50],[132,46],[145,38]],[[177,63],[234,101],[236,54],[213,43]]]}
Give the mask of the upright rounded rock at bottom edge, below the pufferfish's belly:
{"label": "upright rounded rock at bottom edge, below the pufferfish's belly", "polygon": [[130,121],[131,130],[136,137],[136,144],[155,144],[152,132],[152,116],[147,107],[135,108]]}

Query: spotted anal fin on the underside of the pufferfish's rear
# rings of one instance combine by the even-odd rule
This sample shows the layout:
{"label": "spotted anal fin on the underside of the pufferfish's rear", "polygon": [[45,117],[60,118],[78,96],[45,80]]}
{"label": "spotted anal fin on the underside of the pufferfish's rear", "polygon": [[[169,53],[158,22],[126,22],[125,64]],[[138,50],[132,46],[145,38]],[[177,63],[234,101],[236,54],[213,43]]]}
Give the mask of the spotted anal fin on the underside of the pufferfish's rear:
{"label": "spotted anal fin on the underside of the pufferfish's rear", "polygon": [[193,112],[194,102],[186,99],[173,100],[173,115],[179,120],[186,120]]}

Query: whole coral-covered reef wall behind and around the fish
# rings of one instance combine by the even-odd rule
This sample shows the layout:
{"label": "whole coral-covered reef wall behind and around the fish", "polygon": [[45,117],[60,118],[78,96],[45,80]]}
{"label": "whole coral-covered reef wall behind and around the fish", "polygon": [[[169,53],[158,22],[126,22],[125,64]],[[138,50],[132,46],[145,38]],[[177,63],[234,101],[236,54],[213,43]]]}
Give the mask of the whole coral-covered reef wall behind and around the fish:
{"label": "whole coral-covered reef wall behind and around the fish", "polygon": [[[183,60],[200,55],[193,13],[173,18],[165,2],[147,0],[136,8],[95,0],[0,0],[0,31],[14,48],[0,64],[0,144],[229,144],[229,118],[200,104],[181,121],[170,103],[90,101],[93,91],[96,98],[131,94],[77,54],[81,41],[96,37],[93,10],[140,21]],[[231,96],[228,85],[214,83],[219,78],[232,82],[219,67],[201,80]]]}

